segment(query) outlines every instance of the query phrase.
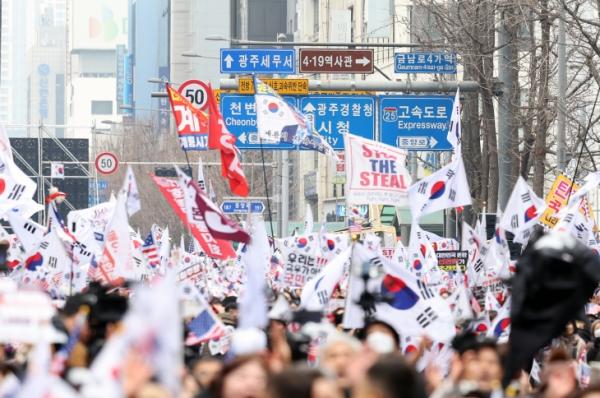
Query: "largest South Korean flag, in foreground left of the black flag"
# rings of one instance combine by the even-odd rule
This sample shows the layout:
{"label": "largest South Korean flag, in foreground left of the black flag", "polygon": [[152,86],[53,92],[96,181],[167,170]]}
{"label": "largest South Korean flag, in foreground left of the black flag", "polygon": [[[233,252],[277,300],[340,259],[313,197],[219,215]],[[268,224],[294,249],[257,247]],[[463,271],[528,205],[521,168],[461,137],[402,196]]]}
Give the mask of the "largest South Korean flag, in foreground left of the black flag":
{"label": "largest South Korean flag, in foreground left of the black flag", "polygon": [[364,291],[359,270],[365,265],[384,274],[383,277],[371,278],[368,290],[391,299],[389,303],[376,304],[376,319],[390,324],[401,336],[427,335],[437,342],[448,342],[454,337],[454,317],[448,303],[400,264],[369,251],[360,243],[355,244],[352,253],[344,327],[364,326],[363,313],[356,302]]}

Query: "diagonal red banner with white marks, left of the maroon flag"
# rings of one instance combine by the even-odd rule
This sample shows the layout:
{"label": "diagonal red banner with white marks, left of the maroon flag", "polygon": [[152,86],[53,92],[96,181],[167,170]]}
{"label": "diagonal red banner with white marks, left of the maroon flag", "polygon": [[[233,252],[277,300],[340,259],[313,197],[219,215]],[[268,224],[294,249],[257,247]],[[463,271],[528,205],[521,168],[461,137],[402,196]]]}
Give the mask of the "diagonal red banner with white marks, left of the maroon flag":
{"label": "diagonal red banner with white marks, left of the maroon flag", "polygon": [[190,224],[185,213],[185,202],[183,189],[179,182],[169,178],[152,176],[152,180],[160,189],[167,202],[171,205],[177,216],[183,224],[189,228],[194,235],[194,238],[200,243],[202,250],[207,256],[218,258],[221,260],[235,258],[235,251],[231,243],[221,239],[215,239],[206,225],[202,227],[202,223]]}

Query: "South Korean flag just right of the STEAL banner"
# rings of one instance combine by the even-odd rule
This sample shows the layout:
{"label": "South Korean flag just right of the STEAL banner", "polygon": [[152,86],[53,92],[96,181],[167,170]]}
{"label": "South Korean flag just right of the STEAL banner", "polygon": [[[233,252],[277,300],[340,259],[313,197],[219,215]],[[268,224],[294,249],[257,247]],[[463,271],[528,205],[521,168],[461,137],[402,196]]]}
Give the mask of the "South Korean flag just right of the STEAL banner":
{"label": "South Korean flag just right of the STEAL banner", "polygon": [[408,189],[413,220],[435,211],[471,204],[469,183],[462,157],[454,160]]}

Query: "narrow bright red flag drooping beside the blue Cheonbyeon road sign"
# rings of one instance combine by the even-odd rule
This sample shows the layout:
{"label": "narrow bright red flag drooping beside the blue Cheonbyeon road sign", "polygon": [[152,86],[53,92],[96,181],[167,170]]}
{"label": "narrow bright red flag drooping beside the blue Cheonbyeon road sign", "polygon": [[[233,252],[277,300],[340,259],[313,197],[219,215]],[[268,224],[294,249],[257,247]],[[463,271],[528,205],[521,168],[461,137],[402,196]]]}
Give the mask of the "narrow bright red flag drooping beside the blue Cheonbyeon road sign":
{"label": "narrow bright red flag drooping beside the blue Cheonbyeon road sign", "polygon": [[248,196],[248,182],[242,170],[238,149],[235,146],[236,138],[225,126],[223,115],[219,111],[210,84],[208,85],[208,107],[210,112],[208,118],[208,149],[221,151],[221,175],[229,180],[231,192],[238,196]]}

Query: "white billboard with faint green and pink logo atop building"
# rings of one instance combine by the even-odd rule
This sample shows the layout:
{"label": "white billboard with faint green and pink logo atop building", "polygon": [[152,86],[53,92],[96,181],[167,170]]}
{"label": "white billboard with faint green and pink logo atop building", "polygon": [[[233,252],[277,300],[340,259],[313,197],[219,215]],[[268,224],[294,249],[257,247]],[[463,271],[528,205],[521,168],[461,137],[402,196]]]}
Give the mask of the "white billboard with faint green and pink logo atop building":
{"label": "white billboard with faint green and pink logo atop building", "polygon": [[108,50],[127,44],[127,1],[86,0],[71,4],[72,49]]}

